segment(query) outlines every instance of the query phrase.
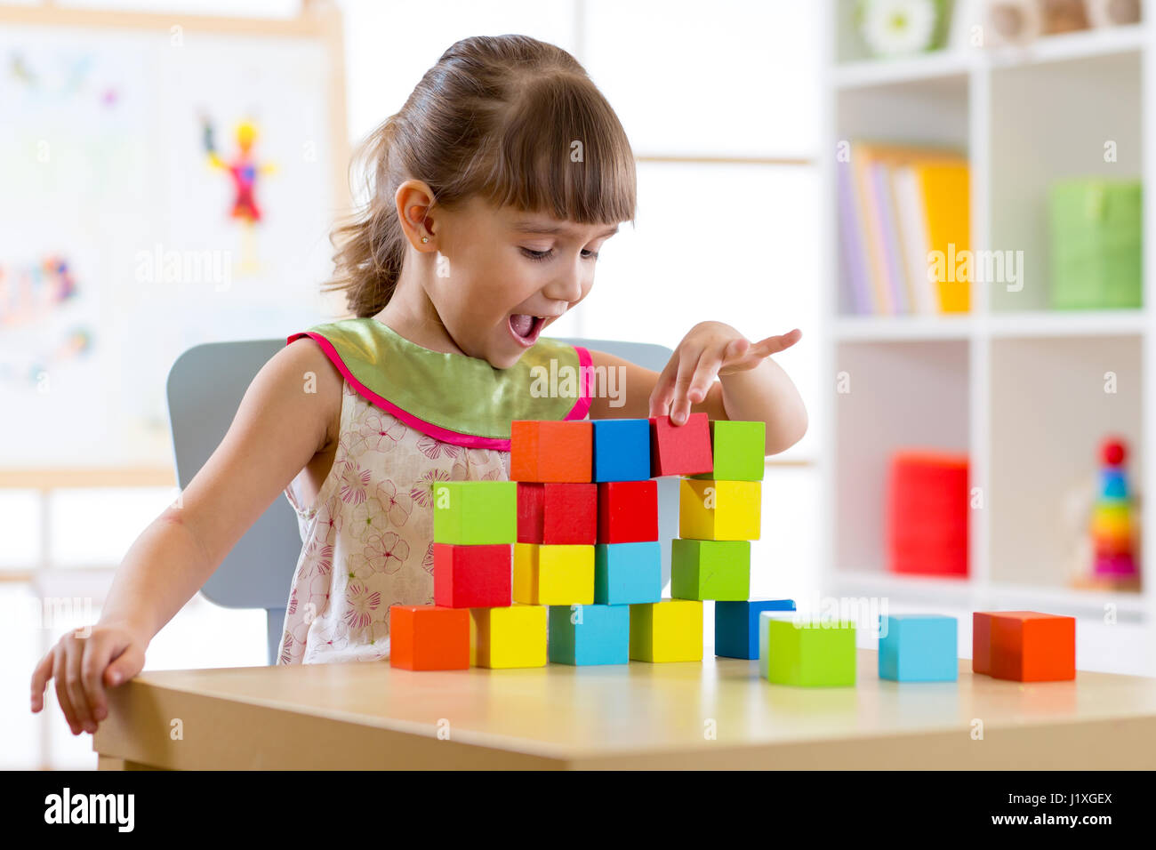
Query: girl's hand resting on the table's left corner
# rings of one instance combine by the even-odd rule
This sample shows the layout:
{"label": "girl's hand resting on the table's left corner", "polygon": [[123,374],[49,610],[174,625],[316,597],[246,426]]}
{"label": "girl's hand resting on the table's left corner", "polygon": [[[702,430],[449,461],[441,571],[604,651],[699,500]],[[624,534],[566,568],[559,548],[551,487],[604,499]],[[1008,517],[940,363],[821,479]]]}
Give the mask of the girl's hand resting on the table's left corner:
{"label": "girl's hand resting on the table's left corner", "polygon": [[72,733],[96,732],[97,724],[109,716],[105,687],[140,673],[147,645],[139,631],[119,623],[69,631],[32,672],[32,711],[44,708],[44,689],[49,679],[55,679],[57,701]]}

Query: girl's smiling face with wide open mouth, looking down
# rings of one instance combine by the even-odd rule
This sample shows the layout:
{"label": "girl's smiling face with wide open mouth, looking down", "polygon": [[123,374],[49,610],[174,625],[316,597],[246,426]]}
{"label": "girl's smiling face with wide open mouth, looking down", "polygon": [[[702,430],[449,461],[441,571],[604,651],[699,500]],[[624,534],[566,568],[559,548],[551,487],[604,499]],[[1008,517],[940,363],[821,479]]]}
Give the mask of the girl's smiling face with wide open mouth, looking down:
{"label": "girl's smiling face with wide open mouth, looking down", "polygon": [[598,251],[617,229],[470,199],[437,219],[427,295],[465,354],[506,369],[586,297]]}

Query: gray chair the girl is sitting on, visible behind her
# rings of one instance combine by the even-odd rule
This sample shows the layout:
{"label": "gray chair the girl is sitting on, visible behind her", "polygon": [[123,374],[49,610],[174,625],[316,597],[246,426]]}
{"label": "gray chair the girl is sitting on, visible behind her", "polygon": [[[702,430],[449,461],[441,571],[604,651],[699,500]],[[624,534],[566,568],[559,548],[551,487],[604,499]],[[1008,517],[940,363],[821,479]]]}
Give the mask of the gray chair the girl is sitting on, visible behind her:
{"label": "gray chair the girl is sitting on, visible behind her", "polygon": [[[643,342],[562,339],[661,371],[670,349]],[[283,339],[209,342],[177,357],[166,386],[177,483],[184,489],[224,438],[253,377],[284,346]],[[679,480],[659,479],[662,584],[670,578],[670,539],[679,533]],[[201,587],[227,608],[265,608],[269,664],[276,661],[289,583],[301,555],[292,507],[280,495],[237,541]]]}

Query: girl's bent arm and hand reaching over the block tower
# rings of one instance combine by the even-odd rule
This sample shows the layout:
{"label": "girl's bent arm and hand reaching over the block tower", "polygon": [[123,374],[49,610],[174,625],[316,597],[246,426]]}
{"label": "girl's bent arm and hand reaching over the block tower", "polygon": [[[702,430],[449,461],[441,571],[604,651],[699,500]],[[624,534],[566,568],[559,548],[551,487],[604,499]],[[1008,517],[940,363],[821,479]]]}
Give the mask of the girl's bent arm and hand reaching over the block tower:
{"label": "girl's bent arm and hand reaching over the block tower", "polygon": [[753,343],[729,325],[702,321],[679,343],[661,372],[592,350],[596,380],[590,417],[669,414],[677,424],[690,413],[705,413],[707,419],[761,420],[766,423],[766,453],[777,454],[806,434],[807,409],[794,383],[770,355],[790,348],[801,335],[796,328]]}

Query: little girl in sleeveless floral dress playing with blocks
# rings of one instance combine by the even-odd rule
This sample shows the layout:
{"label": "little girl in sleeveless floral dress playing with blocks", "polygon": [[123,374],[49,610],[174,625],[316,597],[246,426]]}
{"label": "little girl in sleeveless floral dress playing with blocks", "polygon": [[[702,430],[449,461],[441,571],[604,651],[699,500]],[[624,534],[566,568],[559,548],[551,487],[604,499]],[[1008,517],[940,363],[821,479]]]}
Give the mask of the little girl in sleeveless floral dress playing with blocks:
{"label": "little girl in sleeveless floral dress playing with blocks", "polygon": [[[282,491],[304,545],[279,663],[376,660],[390,606],[433,601],[431,485],[509,480],[511,421],[705,412],[764,421],[768,454],[806,430],[769,357],[798,330],[751,342],[702,321],[661,374],[541,335],[635,216],[625,133],[565,51],[462,39],[361,153],[370,200],[335,231],[332,287],[356,318],[289,337],[180,505],[133,544],[99,621],[37,665],[32,710],[54,678],[74,734],[96,731],[105,688],[141,671],[153,636]],[[532,392],[551,361],[618,369],[624,398],[612,406],[586,382],[577,398]]]}

